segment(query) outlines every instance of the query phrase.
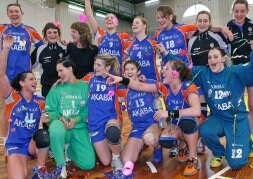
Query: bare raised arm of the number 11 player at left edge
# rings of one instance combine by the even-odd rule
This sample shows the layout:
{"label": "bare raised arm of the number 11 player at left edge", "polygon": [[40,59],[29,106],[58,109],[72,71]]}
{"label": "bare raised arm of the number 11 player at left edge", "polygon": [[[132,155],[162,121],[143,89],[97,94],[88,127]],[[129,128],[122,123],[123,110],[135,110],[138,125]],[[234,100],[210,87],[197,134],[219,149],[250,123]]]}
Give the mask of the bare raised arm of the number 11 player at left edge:
{"label": "bare raised arm of the number 11 player at left edge", "polygon": [[12,36],[4,35],[3,43],[0,40],[0,44],[3,46],[0,48],[0,91],[4,98],[8,97],[11,93],[11,85],[6,75],[7,68],[7,59],[9,50],[14,42],[14,38]]}

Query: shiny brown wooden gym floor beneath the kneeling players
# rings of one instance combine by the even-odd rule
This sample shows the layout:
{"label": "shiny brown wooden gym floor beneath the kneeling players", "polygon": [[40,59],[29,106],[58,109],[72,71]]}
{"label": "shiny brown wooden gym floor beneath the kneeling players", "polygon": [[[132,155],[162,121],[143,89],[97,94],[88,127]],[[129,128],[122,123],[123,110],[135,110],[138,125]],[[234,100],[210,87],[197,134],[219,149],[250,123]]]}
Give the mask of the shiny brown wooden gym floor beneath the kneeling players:
{"label": "shiny brown wooden gym floor beneath the kneeling players", "polygon": [[[126,141],[128,136],[128,131],[130,130],[131,126],[130,123],[127,120],[124,122],[123,127],[123,142]],[[200,160],[200,170],[199,172],[191,177],[185,177],[182,173],[186,166],[185,163],[178,163],[177,158],[170,158],[168,154],[168,150],[163,150],[163,157],[164,161],[160,164],[155,164],[154,166],[157,169],[157,173],[152,173],[149,169],[146,162],[152,161],[152,149],[146,148],[142,155],[140,155],[139,160],[135,163],[134,167],[134,173],[136,179],[206,179],[209,177],[212,177],[216,173],[220,172],[221,170],[227,169],[227,163],[226,161],[223,162],[221,167],[211,169],[209,162],[212,158],[212,154],[209,150],[207,150],[205,153],[199,155]],[[87,156],[88,157],[88,156]],[[249,167],[250,163],[253,162],[253,158],[249,159],[249,163],[243,167],[243,169],[239,171],[234,171],[229,169],[226,172],[223,172],[221,175],[218,175],[217,177],[213,176],[214,178],[238,178],[238,179],[253,179],[253,169]],[[36,165],[36,159],[29,161],[29,178],[32,176],[32,166]],[[51,171],[55,168],[54,161],[52,159],[48,159],[46,163],[48,171]],[[71,170],[73,172],[72,179],[80,179],[80,178],[89,178],[89,179],[102,179],[105,178],[103,172],[110,171],[111,167],[103,167],[101,164],[97,163],[95,169],[91,171],[81,171],[78,168],[76,168],[74,165],[70,165]],[[13,171],[15,172],[15,171]],[[6,179],[7,178],[7,163],[5,162],[4,155],[0,155],[0,179]]]}

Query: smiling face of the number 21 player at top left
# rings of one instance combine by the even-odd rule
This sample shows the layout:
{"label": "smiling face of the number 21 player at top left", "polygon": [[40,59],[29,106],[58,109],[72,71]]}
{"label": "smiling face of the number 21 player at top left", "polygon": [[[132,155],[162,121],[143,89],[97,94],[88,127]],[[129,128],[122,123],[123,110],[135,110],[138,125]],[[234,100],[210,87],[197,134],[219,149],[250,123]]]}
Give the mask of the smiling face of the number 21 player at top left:
{"label": "smiling face of the number 21 player at top left", "polygon": [[12,25],[18,26],[21,24],[23,12],[19,6],[12,5],[7,9],[7,16]]}

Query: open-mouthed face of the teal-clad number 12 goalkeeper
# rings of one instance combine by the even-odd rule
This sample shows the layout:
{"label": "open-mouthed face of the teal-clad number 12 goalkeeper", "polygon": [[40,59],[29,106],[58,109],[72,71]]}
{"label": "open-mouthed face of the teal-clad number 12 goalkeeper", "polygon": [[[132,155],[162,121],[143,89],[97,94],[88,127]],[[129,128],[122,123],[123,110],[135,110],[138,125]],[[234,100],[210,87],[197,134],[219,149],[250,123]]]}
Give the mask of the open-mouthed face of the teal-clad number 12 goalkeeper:
{"label": "open-mouthed face of the teal-clad number 12 goalkeeper", "polygon": [[210,50],[208,53],[208,65],[212,72],[219,73],[224,69],[225,57],[218,49]]}

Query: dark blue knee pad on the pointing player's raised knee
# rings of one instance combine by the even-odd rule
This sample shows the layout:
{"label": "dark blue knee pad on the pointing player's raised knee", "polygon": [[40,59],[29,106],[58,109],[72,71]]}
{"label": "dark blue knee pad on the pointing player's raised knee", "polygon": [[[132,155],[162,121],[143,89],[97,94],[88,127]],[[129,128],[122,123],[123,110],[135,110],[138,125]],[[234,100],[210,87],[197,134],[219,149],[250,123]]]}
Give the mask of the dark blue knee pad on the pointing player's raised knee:
{"label": "dark blue knee pad on the pointing player's raised knee", "polygon": [[178,125],[185,134],[193,134],[198,129],[197,121],[194,117],[183,117]]}

